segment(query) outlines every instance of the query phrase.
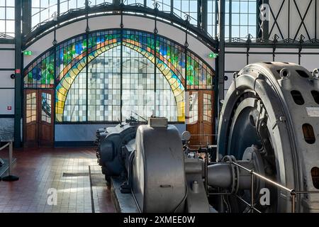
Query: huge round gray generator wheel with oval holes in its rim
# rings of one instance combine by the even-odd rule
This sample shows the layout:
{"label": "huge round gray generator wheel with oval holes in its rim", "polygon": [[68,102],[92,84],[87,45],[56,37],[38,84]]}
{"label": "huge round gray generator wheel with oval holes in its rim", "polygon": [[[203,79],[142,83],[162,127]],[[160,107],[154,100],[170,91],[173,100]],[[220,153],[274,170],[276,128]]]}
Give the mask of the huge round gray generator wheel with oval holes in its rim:
{"label": "huge round gray generator wheel with oval holes in its rim", "polygon": [[[264,62],[234,74],[218,127],[218,153],[259,153],[264,176],[296,191],[319,189],[319,80],[300,65]],[[312,175],[313,172],[313,175]],[[291,211],[289,193],[271,189],[275,212]],[[319,211],[319,194],[301,194],[296,211]]]}

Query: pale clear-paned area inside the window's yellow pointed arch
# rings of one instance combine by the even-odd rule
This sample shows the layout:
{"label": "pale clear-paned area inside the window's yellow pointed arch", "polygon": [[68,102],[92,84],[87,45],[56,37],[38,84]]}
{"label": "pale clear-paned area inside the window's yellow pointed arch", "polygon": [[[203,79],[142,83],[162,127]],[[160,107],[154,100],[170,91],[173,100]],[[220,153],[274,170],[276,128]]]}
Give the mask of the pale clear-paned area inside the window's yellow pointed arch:
{"label": "pale clear-paned area inside the window's yellow pointed arch", "polygon": [[[133,113],[147,118],[155,114],[155,109],[157,116],[177,121],[176,101],[167,79],[157,70],[155,92],[154,65],[140,53],[126,47],[123,47],[121,110],[120,64],[120,46],[104,52],[89,63],[88,121],[118,121],[121,112],[123,119]],[[63,121],[86,121],[85,78],[83,70],[69,89]]]}

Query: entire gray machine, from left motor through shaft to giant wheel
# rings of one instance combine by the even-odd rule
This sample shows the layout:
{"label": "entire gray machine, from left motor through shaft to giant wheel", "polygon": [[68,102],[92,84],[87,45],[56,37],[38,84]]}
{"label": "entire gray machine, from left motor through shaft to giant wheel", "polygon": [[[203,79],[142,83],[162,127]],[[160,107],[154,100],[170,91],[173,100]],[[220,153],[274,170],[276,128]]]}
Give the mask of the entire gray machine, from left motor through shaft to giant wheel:
{"label": "entire gray machine, from left motor through shaft to giant wheel", "polygon": [[[132,194],[140,212],[250,211],[242,200],[259,211],[290,212],[291,192],[257,177],[252,184],[246,170],[297,192],[318,191],[318,77],[318,70],[281,62],[234,74],[220,112],[217,153],[209,145],[190,150],[189,133],[180,137],[165,118],[100,129],[102,172],[108,182],[123,181],[121,192]],[[269,204],[259,203],[264,188]],[[319,194],[299,194],[295,210],[318,212]]]}

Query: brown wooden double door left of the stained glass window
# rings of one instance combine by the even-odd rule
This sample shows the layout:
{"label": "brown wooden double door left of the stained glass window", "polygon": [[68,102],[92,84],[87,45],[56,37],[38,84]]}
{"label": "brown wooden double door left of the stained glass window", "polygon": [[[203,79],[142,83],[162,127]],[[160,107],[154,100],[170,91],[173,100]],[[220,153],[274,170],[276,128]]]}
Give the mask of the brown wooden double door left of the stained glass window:
{"label": "brown wooden double door left of the stained glass window", "polygon": [[25,90],[25,115],[23,118],[23,140],[25,147],[53,146],[53,101],[53,90]]}

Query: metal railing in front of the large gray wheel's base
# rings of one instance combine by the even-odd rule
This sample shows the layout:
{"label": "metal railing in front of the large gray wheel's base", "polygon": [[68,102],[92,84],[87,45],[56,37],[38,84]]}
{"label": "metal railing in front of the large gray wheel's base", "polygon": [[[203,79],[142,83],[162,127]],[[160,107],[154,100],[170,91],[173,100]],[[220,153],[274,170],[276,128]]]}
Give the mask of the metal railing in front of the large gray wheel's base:
{"label": "metal railing in front of the large gray wheel's base", "polygon": [[296,211],[296,197],[298,194],[319,194],[319,190],[318,191],[296,191],[295,189],[289,189],[288,187],[284,187],[283,185],[272,181],[271,179],[268,179],[267,177],[264,177],[262,175],[259,175],[257,172],[254,172],[254,170],[249,170],[246,167],[243,167],[242,165],[239,165],[236,162],[230,162],[233,165],[236,165],[237,167],[239,167],[242,170],[245,170],[247,172],[250,173],[250,177],[251,177],[251,182],[250,182],[250,190],[251,190],[251,198],[250,198],[250,203],[248,203],[247,201],[245,201],[244,199],[242,199],[240,196],[237,196],[238,199],[240,199],[240,201],[242,201],[244,204],[246,204],[249,208],[250,211],[253,213],[254,211],[257,211],[258,213],[262,213],[262,211],[259,211],[258,209],[256,209],[254,207],[254,178],[257,177],[259,179],[263,179],[266,182],[269,182],[270,184],[274,185],[275,187],[278,187],[280,189],[283,189],[286,192],[289,192],[290,196],[291,196],[291,213],[295,213]]}

